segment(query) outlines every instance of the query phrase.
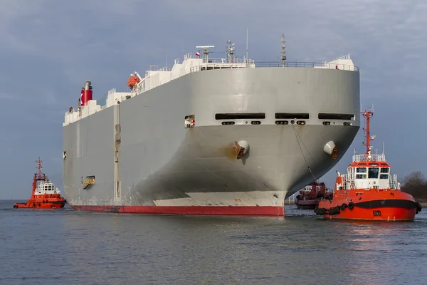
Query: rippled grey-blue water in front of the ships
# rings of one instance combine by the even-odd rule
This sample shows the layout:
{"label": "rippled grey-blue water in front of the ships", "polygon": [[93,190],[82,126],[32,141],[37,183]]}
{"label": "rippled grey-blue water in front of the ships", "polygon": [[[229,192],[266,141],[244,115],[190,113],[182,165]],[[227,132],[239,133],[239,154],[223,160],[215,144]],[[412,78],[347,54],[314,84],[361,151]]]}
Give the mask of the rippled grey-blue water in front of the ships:
{"label": "rippled grey-blue water in front of the ships", "polygon": [[423,284],[415,222],[11,209],[0,202],[0,284]]}

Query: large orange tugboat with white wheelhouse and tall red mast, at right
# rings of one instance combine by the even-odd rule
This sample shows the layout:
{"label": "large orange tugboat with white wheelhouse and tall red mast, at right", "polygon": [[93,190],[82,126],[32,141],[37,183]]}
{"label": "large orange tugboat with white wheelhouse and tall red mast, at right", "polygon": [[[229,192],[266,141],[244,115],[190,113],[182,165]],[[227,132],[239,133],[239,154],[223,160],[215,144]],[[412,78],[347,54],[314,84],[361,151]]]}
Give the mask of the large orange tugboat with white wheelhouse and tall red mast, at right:
{"label": "large orange tugboat with white wheelhouse and tall red mast, at right", "polygon": [[315,213],[329,219],[363,219],[374,221],[413,221],[421,204],[401,192],[397,175],[391,176],[386,155],[371,154],[369,120],[374,112],[362,111],[365,120],[363,155],[353,155],[347,174],[339,172],[332,200],[322,200]]}

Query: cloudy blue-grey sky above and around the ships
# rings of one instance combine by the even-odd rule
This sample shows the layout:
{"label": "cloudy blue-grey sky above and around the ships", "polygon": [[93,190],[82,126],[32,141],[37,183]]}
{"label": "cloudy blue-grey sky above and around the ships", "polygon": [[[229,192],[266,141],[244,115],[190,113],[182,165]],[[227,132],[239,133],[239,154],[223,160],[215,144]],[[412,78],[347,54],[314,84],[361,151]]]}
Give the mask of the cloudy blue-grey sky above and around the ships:
{"label": "cloudy blue-grey sky above and around the ships", "polygon": [[[62,123],[90,79],[94,98],[126,90],[134,70],[236,43],[243,57],[329,61],[351,54],[360,68],[362,108],[374,105],[374,150],[392,172],[427,174],[427,1],[425,0],[1,0],[0,199],[28,199],[36,160],[63,191]],[[213,50],[214,51],[214,50]],[[362,150],[359,130],[346,155],[321,178],[329,187]]]}

